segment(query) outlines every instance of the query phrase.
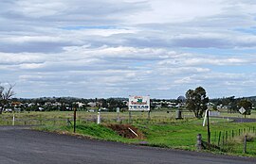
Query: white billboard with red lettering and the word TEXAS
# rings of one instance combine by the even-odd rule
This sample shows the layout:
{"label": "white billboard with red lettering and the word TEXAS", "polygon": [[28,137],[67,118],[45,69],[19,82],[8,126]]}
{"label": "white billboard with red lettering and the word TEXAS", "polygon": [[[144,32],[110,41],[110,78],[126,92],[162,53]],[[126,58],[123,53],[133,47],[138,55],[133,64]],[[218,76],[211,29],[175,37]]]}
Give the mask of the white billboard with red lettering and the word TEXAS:
{"label": "white billboard with red lettering and the word TEXAS", "polygon": [[130,96],[129,110],[130,111],[149,111],[150,96]]}

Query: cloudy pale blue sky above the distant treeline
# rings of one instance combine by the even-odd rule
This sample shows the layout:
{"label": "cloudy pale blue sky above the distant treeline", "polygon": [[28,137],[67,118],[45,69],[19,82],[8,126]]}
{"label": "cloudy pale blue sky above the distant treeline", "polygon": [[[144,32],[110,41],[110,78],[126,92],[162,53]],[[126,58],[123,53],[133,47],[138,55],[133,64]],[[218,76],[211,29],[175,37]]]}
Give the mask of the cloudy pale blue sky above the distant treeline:
{"label": "cloudy pale blue sky above the distant treeline", "polygon": [[1,0],[16,97],[256,95],[254,0]]}

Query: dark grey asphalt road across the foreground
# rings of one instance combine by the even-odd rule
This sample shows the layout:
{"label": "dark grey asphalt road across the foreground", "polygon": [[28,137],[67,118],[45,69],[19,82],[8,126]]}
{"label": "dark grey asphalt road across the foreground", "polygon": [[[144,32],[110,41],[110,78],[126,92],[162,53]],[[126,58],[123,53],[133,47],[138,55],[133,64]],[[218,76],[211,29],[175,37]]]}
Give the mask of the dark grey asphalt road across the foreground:
{"label": "dark grey asphalt road across the foreground", "polygon": [[255,164],[256,158],[216,156],[0,126],[1,164]]}

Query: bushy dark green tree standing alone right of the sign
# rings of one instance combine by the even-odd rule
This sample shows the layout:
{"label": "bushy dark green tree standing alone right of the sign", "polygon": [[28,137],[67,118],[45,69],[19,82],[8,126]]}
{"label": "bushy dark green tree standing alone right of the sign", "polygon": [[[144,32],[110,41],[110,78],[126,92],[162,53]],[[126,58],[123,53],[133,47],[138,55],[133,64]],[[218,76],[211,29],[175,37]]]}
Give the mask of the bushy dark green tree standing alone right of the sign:
{"label": "bushy dark green tree standing alone right of the sign", "polygon": [[194,113],[198,119],[202,118],[204,111],[207,109],[209,98],[206,95],[206,90],[202,87],[197,87],[195,90],[186,92],[186,107]]}

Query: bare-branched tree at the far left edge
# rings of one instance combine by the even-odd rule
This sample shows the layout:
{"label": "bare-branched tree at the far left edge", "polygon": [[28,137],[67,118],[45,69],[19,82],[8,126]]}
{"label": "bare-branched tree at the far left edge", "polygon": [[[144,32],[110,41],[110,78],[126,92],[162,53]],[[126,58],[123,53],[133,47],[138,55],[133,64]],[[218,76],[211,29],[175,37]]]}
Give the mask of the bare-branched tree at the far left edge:
{"label": "bare-branched tree at the far left edge", "polygon": [[0,114],[2,114],[3,110],[9,103],[9,99],[15,94],[13,91],[14,85],[1,85],[0,84]]}

